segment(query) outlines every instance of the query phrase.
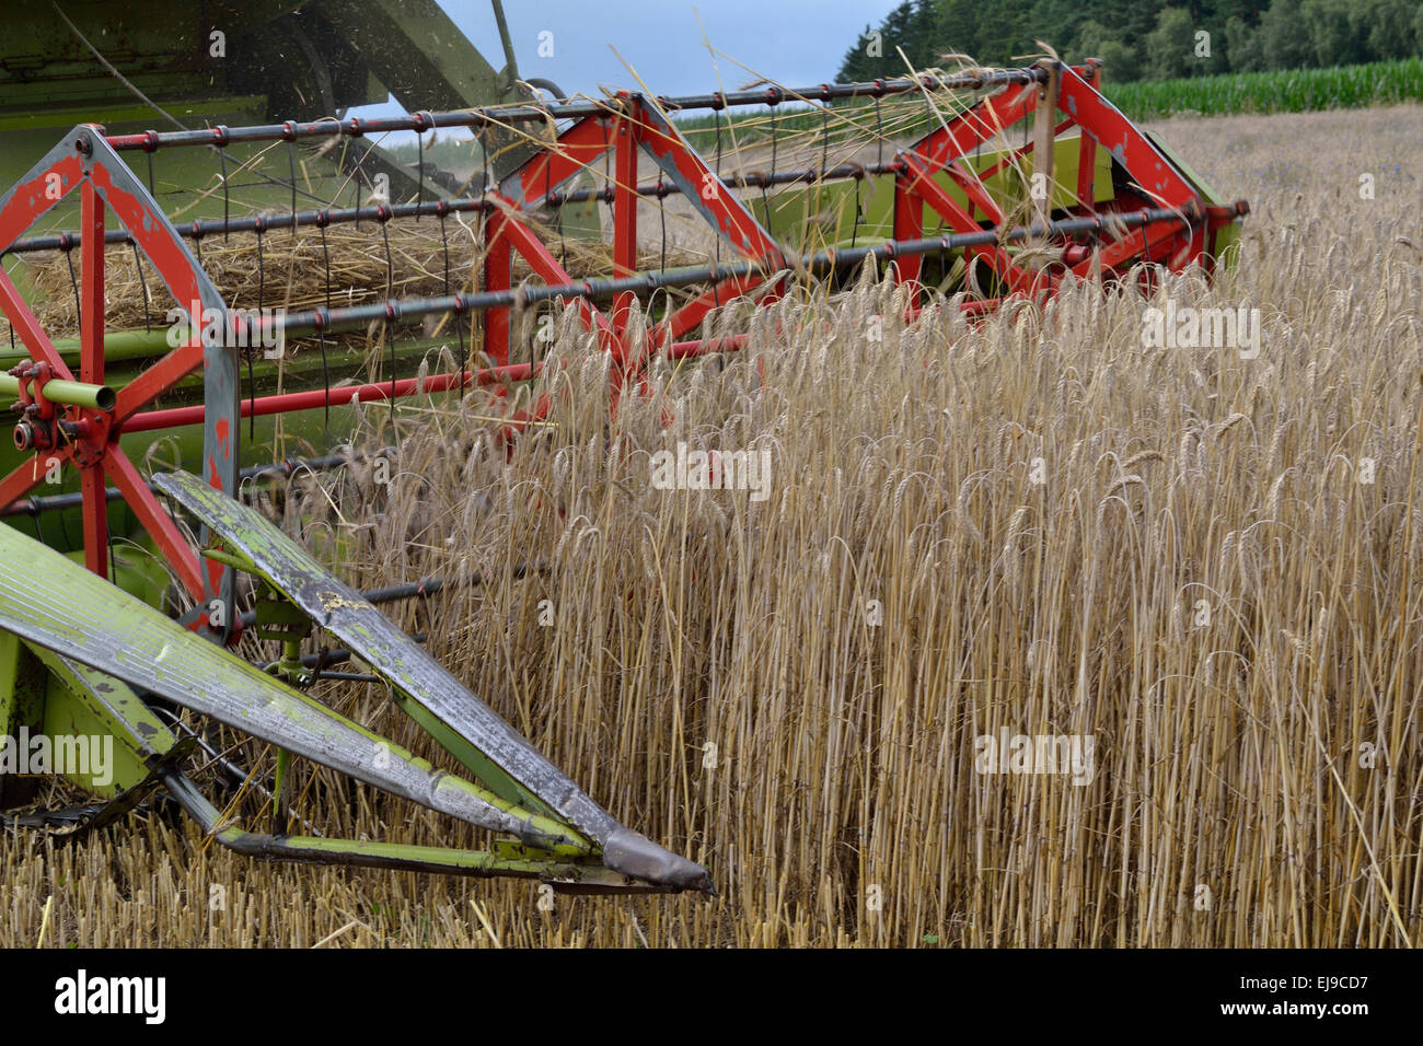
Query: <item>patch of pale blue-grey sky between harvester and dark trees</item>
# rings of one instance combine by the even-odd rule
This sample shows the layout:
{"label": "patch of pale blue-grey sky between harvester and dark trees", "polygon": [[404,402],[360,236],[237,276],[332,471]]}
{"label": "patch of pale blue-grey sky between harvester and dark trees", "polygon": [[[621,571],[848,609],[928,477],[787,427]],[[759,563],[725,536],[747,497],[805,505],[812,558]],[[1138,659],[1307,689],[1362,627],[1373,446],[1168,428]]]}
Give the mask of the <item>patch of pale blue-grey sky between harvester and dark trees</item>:
{"label": "patch of pale blue-grey sky between harvester and dark trees", "polygon": [[[832,80],[865,26],[879,24],[898,4],[899,0],[504,0],[504,14],[524,78],[544,77],[568,94],[582,91],[595,97],[605,84],[639,90],[612,46],[652,94],[677,95],[736,90],[758,75],[787,87]],[[490,0],[441,0],[440,6],[495,68],[504,65]],[[723,54],[713,56],[704,40]]]}

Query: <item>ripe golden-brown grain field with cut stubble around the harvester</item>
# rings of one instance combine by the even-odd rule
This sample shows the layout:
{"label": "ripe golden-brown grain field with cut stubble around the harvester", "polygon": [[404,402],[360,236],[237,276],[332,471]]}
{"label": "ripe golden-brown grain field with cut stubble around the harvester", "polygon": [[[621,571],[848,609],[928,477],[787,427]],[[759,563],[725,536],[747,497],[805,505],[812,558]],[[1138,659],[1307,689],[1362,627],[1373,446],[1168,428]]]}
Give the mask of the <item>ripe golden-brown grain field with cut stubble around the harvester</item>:
{"label": "ripe golden-brown grain field with cut stubble around the harvester", "polygon": [[[0,835],[0,945],[1416,942],[1423,110],[1155,130],[1252,204],[1214,285],[980,326],[805,290],[729,315],[740,354],[659,363],[612,427],[565,316],[532,390],[556,424],[511,460],[471,397],[403,418],[388,491],[285,491],[309,544],[357,542],[359,585],[488,572],[393,613],[716,898],[548,909],[525,881],[249,862],[149,813]],[[1258,307],[1259,356],[1143,347],[1165,297]],[[655,488],[679,440],[768,448],[768,497]],[[323,693],[414,737],[383,693]],[[1003,730],[1094,739],[1090,780],[978,773]],[[481,844],[299,773],[323,831]]]}

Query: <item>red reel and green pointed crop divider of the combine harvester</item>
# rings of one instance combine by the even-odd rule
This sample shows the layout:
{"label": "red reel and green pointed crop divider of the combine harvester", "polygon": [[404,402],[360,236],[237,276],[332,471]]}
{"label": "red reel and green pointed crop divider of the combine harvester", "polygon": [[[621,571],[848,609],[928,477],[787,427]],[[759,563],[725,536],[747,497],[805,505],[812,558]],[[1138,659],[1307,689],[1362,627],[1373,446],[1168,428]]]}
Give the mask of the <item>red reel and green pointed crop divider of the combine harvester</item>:
{"label": "red reel and green pointed crop divider of the combine harvester", "polygon": [[[350,7],[307,4],[307,10],[327,6]],[[420,4],[371,7],[408,13]],[[447,30],[453,26],[445,21],[441,31]],[[1044,60],[1027,68],[800,91],[527,98],[383,120],[172,131],[77,122],[55,135],[53,148],[0,199],[3,253],[80,252],[78,337],[68,342],[53,339],[21,289],[0,273],[0,309],[17,339],[14,366],[0,376],[0,393],[17,408],[17,453],[0,477],[0,509],[16,524],[0,527],[0,734],[112,737],[117,773],[100,786],[92,774],[70,771],[71,783],[97,803],[78,813],[40,811],[18,820],[75,833],[111,824],[164,790],[222,844],[256,857],[536,877],[573,889],[710,891],[704,868],[619,824],[376,606],[421,586],[353,591],[243,504],[246,477],[263,470],[289,474],[295,467],[272,465],[272,447],[255,440],[256,430],[248,426],[258,417],[289,416],[314,433],[314,445],[333,447],[346,437],[339,408],[357,400],[388,400],[394,408],[400,397],[536,380],[545,361],[512,363],[511,347],[519,317],[545,302],[576,307],[578,320],[608,356],[616,404],[619,393],[646,381],[659,354],[686,359],[741,349],[746,336],[689,336],[719,307],[766,305],[791,280],[884,266],[888,278],[908,285],[914,313],[931,305],[924,279],[932,265],[941,286],[956,282],[965,292],[933,300],[982,313],[1012,296],[1052,295],[1069,273],[1127,279],[1155,265],[1210,270],[1245,205],[1217,199],[1164,144],[1133,127],[1099,93],[1099,77],[1097,63],[1072,67]],[[810,102],[822,107],[828,125],[831,117],[865,115],[871,105],[878,120],[881,101],[918,105],[921,98],[952,101],[953,108],[914,145],[872,165],[777,171],[773,162],[770,171],[721,176],[720,155],[703,158],[673,121],[675,114],[710,111],[720,138],[729,110]],[[333,101],[339,100],[327,95],[322,104]],[[556,128],[556,139],[518,134],[529,127]],[[283,184],[290,191],[287,206],[232,215],[223,199],[221,218],[175,221],[151,184],[154,157],[216,152],[226,164],[226,151],[243,147],[273,147],[275,155],[290,157],[297,145],[344,147],[434,128],[468,128],[480,139],[504,135],[521,142],[524,155],[507,171],[487,164],[478,189],[445,195],[420,168],[408,199],[330,201],[316,208],[297,202],[293,159],[290,182]],[[1022,144],[1009,144],[1019,131]],[[1043,157],[1044,164],[1035,162]],[[643,158],[655,167],[655,181],[639,181]],[[868,184],[878,189],[869,194],[879,201],[878,212],[859,206]],[[780,186],[798,188],[778,192],[773,211],[767,192]],[[223,178],[219,195],[226,189]],[[37,233],[70,194],[80,201],[80,228]],[[662,206],[675,196],[710,225],[730,256],[639,270],[639,202]],[[817,245],[804,218],[822,212],[827,201],[854,206],[842,206],[845,218],[828,233],[824,222],[815,226]],[[545,219],[576,205],[610,209],[612,272],[605,276],[573,279],[536,232]],[[1010,219],[1019,212],[1026,221]],[[425,219],[444,232],[454,215],[477,222],[480,289],[249,317],[229,309],[199,260],[203,241],[218,236],[255,236],[260,250],[263,235],[324,236],[333,226],[364,222],[379,249],[374,245],[390,222]],[[141,253],[179,303],[186,326],[178,347],[155,346],[145,332],[105,333],[105,266],[112,265],[105,243]],[[515,255],[534,273],[521,286],[512,279]],[[657,315],[652,296],[663,289],[687,289],[687,296]],[[630,322],[638,309],[656,317],[650,329]],[[380,381],[361,381],[369,376],[347,370],[339,377],[356,383],[333,390],[324,381],[263,396],[249,374],[250,394],[243,394],[243,347],[269,344],[279,334],[326,339],[373,323],[394,330],[444,315],[457,322],[461,342],[468,337],[465,370],[404,379],[393,371]],[[475,350],[492,366],[475,367]],[[246,363],[252,366],[252,353]],[[309,370],[289,371],[287,389],[303,374],[312,380]],[[189,393],[199,398],[184,404]],[[554,413],[556,404],[545,394],[531,410],[511,410],[505,428],[517,433]],[[185,468],[145,475],[134,464],[158,434],[185,448]],[[327,457],[300,467],[340,464]],[[186,537],[194,532],[185,529],[189,522],[196,524],[196,541]],[[154,555],[121,562],[112,555],[115,532]],[[73,541],[75,534],[80,541]],[[253,583],[238,585],[238,572]],[[181,601],[169,593],[171,582],[181,586]],[[239,605],[239,592],[255,596]],[[189,609],[182,612],[179,602]],[[277,652],[275,660],[259,666],[235,652],[245,629]],[[337,645],[339,656],[317,663],[312,653],[317,643]],[[434,768],[310,696],[313,680],[342,657],[369,666],[367,679],[390,689],[462,776]],[[191,773],[202,759],[195,753],[201,737],[175,709],[280,751],[269,788],[270,834],[229,825],[199,790]],[[287,834],[292,756],[511,840],[477,852]],[[16,805],[24,784],[0,776],[0,798]]]}

